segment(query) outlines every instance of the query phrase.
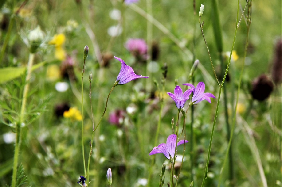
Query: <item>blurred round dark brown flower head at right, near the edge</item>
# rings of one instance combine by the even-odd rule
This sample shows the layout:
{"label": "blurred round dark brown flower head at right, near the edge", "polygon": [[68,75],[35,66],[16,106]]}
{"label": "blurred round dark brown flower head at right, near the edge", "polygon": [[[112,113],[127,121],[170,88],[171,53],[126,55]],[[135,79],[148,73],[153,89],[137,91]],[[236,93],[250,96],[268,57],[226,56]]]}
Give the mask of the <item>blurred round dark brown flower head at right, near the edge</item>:
{"label": "blurred round dark brown flower head at right, near the edge", "polygon": [[263,101],[269,97],[273,86],[271,79],[265,74],[262,74],[252,82],[251,94],[254,99]]}

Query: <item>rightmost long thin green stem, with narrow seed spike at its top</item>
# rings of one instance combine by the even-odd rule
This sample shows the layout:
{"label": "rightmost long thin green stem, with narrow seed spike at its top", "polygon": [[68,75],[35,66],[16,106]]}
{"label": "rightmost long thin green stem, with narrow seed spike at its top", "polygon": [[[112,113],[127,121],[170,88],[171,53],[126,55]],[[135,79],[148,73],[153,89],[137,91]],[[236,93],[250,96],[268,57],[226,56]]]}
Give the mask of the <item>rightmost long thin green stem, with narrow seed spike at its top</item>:
{"label": "rightmost long thin green stem, with narrow seed spike at its top", "polygon": [[[248,1],[247,1],[246,5],[248,5]],[[246,10],[246,8],[244,10]],[[244,14],[244,12],[243,12],[243,14]],[[231,133],[230,133],[230,136],[229,136],[228,147],[227,147],[227,150],[226,150],[226,153],[225,153],[225,159],[224,159],[224,162],[222,164],[221,171],[220,171],[219,182],[218,182],[218,185],[217,185],[218,187],[220,186],[220,183],[221,183],[222,172],[223,172],[224,166],[226,164],[228,152],[229,153],[231,152],[231,144],[232,144],[232,137],[233,137],[234,127],[235,127],[235,122],[236,122],[236,111],[237,111],[237,105],[238,105],[238,99],[239,99],[239,93],[240,93],[240,87],[241,87],[241,80],[242,80],[242,77],[243,77],[245,58],[246,58],[246,55],[247,55],[248,44],[249,44],[249,32],[250,32],[250,23],[251,23],[249,16],[250,16],[250,10],[248,11],[246,44],[245,44],[245,51],[244,51],[244,56],[243,56],[241,73],[240,73],[240,77],[239,77],[236,104],[235,104],[235,109],[234,109],[234,113],[233,113],[232,129],[231,129]]]}

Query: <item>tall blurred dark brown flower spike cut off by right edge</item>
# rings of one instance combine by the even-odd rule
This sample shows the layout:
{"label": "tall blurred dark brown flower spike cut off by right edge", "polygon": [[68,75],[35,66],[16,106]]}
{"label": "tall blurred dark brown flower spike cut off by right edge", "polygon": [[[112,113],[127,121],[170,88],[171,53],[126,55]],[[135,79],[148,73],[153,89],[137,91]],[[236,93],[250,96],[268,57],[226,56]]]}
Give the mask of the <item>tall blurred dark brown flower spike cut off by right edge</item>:
{"label": "tall blurred dark brown flower spike cut off by right edge", "polygon": [[274,55],[272,79],[275,84],[278,84],[282,81],[282,40],[277,42]]}

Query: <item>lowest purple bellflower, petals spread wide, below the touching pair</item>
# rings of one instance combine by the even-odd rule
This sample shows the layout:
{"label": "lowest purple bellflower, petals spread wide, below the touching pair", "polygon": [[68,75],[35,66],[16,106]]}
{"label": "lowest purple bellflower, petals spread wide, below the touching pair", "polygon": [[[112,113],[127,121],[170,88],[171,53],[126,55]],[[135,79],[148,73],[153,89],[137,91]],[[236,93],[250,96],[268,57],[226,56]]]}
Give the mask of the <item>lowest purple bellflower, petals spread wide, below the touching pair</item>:
{"label": "lowest purple bellflower, petals spread wide, below the touching pair", "polygon": [[[187,143],[188,141],[185,140],[185,142]],[[179,142],[177,142],[177,146],[183,143],[184,140],[180,140]],[[161,143],[157,147],[154,147],[153,150],[149,153],[149,155],[153,155],[156,153],[163,153],[166,156],[166,158],[170,160],[170,157],[171,158],[174,157],[175,144],[176,144],[176,134],[171,134],[168,136],[168,139],[166,140],[166,144]]]}

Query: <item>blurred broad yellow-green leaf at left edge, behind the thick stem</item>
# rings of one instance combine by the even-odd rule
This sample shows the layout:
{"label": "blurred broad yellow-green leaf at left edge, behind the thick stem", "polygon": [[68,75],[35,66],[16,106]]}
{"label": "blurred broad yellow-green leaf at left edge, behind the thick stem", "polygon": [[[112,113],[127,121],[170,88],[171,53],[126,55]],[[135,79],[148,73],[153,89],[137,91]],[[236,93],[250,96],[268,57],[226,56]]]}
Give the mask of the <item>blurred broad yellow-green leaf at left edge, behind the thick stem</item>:
{"label": "blurred broad yellow-green leaf at left edge, behind the thick stem", "polygon": [[[46,64],[45,61],[32,66],[32,71]],[[26,67],[6,67],[0,69],[0,84],[11,81],[25,73]]]}

